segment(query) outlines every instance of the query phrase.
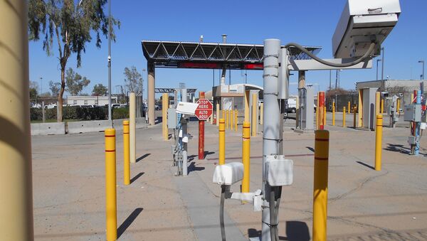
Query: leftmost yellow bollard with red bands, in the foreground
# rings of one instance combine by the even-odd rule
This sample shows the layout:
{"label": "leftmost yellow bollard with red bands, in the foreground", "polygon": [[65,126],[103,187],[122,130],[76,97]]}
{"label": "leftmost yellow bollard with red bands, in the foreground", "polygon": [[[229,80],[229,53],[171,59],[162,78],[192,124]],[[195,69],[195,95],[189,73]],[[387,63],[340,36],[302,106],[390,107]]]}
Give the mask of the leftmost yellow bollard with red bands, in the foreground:
{"label": "leftmost yellow bollard with red bands, in the foreground", "polygon": [[115,129],[105,129],[105,212],[107,241],[117,240]]}

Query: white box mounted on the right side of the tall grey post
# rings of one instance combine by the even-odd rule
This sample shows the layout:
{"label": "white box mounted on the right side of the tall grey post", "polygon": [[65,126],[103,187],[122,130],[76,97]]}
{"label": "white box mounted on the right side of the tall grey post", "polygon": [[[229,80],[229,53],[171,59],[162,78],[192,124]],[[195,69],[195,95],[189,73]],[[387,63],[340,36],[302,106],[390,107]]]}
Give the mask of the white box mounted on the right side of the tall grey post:
{"label": "white box mounted on the right side of the tall grey post", "polygon": [[293,180],[293,162],[283,155],[270,155],[266,159],[267,181],[270,186],[288,186]]}

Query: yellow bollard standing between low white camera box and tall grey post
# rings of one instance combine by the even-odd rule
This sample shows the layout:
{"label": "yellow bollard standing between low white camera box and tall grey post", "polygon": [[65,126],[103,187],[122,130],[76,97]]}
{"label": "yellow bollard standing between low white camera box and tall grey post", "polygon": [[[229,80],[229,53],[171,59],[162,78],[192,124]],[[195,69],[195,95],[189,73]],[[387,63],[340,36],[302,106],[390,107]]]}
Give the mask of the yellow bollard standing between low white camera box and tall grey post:
{"label": "yellow bollard standing between low white camera box and tall grey post", "polygon": [[243,122],[242,163],[242,193],[249,193],[251,179],[251,123],[249,122]]}

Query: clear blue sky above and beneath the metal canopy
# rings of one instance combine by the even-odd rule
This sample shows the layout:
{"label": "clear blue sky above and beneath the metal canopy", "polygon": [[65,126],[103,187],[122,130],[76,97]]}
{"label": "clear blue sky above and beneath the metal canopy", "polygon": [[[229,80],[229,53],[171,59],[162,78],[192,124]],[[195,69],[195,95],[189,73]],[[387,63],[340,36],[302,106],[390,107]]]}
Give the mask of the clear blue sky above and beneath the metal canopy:
{"label": "clear blue sky above and beneath the metal canopy", "polygon": [[[147,68],[141,48],[143,39],[199,41],[199,36],[203,35],[205,42],[221,42],[222,33],[228,34],[228,43],[263,43],[265,38],[279,38],[283,44],[292,41],[322,46],[319,56],[332,58],[332,34],[345,2],[112,0],[112,15],[122,23],[116,30],[117,41],[112,43],[112,92],[115,93],[116,85],[124,84],[125,67],[135,65],[141,73],[143,68]],[[419,79],[421,63],[418,60],[427,60],[427,1],[401,0],[401,9],[399,23],[383,43],[384,78],[388,75],[392,79]],[[46,92],[49,80],[60,81],[58,51],[47,56],[41,41],[31,42],[29,49],[30,80],[40,85],[40,77],[43,77],[43,92]],[[75,57],[75,54],[71,55],[68,67],[91,80],[83,92],[90,93],[97,83],[107,85],[106,39],[100,49],[94,42],[86,45],[81,68],[76,68]],[[354,89],[354,82],[375,80],[375,67],[374,64],[374,68],[368,70],[342,71],[341,87]],[[329,76],[329,70],[311,71],[306,78],[307,83],[317,84],[320,90],[326,90]],[[144,97],[147,97],[147,72],[143,77]],[[179,82],[185,82],[187,87],[207,91],[211,90],[212,77],[212,70],[157,68],[156,87],[178,87]],[[215,77],[218,84],[218,70]],[[262,71],[248,71],[248,83],[262,86],[262,81]],[[296,81],[295,73],[290,82]],[[241,70],[232,71],[231,83],[241,82],[244,82]],[[296,87],[290,85],[291,94],[297,92]]]}

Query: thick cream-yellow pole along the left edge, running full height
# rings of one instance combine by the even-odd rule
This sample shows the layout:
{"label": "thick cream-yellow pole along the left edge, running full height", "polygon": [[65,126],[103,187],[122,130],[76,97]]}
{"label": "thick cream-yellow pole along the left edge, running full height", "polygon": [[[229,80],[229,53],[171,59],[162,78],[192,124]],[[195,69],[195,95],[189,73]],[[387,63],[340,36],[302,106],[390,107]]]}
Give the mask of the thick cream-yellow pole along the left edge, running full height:
{"label": "thick cream-yellow pole along the left edge, running full height", "polygon": [[0,240],[33,240],[28,1],[0,1]]}

